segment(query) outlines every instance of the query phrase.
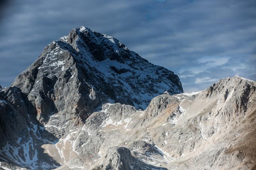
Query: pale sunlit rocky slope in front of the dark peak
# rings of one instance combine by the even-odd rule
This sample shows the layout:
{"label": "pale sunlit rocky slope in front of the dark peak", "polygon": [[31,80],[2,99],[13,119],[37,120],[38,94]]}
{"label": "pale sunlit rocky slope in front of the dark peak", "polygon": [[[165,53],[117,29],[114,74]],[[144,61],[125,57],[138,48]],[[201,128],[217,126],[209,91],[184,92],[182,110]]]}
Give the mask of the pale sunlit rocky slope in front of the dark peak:
{"label": "pale sunlit rocky slope in front of the dark peak", "polygon": [[157,96],[144,111],[104,105],[67,140],[78,156],[58,169],[105,169],[112,147],[143,162],[127,161],[127,169],[253,169],[255,90],[255,82],[232,77],[202,92]]}

